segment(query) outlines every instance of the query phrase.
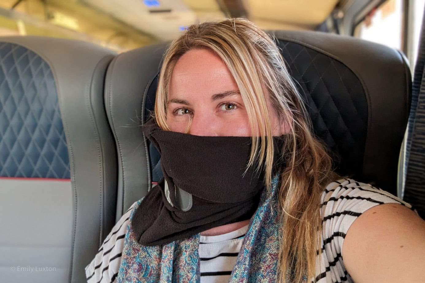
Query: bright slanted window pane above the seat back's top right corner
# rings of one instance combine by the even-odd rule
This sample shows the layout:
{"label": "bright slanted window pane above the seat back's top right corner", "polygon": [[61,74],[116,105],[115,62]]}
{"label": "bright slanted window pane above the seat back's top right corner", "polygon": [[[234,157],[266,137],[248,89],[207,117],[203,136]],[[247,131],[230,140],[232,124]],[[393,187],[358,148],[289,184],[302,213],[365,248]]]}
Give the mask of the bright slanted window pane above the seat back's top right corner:
{"label": "bright slanted window pane above the seat back's top right corner", "polygon": [[403,50],[403,0],[386,0],[355,25],[354,36]]}

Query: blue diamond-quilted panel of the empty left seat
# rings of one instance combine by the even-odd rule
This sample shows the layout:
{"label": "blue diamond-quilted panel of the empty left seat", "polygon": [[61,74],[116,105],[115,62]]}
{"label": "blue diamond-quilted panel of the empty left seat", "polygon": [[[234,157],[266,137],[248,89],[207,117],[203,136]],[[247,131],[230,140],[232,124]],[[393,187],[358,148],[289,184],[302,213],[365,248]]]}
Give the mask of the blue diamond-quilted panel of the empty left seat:
{"label": "blue diamond-quilted panel of the empty left seat", "polygon": [[57,90],[48,64],[0,42],[0,177],[69,179]]}

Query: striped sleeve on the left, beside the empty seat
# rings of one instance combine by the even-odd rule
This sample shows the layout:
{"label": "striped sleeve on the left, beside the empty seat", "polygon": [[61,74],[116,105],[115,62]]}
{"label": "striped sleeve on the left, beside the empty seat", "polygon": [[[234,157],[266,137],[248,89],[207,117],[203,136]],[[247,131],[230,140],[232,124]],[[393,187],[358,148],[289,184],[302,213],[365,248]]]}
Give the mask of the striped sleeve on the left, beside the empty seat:
{"label": "striped sleeve on the left, beside the empty seat", "polygon": [[85,267],[85,276],[88,283],[116,282],[124,247],[124,237],[127,233],[128,219],[136,203],[133,203],[115,224],[94,259]]}

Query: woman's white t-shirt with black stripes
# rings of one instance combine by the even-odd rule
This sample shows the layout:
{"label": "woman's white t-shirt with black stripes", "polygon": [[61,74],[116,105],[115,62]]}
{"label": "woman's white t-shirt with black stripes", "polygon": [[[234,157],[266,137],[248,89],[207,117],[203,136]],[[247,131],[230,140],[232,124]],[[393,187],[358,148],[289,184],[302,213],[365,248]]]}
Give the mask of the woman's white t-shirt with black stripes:
{"label": "woman's white t-shirt with black stripes", "polygon": [[[322,194],[321,202],[322,247],[317,251],[316,277],[312,278],[317,283],[353,282],[344,266],[341,252],[348,228],[362,213],[384,203],[397,203],[411,208],[390,193],[352,179],[329,184]],[[134,205],[113,227],[95,258],[85,268],[88,283],[116,282],[124,236]],[[224,235],[201,237],[203,244],[199,245],[199,257],[202,283],[228,282],[246,229],[242,227]]]}

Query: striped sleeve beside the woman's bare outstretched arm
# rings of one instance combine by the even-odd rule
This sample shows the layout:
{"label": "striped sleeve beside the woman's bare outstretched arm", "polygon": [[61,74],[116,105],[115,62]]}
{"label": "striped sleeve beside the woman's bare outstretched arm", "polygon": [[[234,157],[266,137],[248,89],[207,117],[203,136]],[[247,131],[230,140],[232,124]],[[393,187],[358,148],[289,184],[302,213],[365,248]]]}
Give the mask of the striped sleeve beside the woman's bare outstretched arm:
{"label": "striped sleeve beside the woman's bare outstretched arm", "polygon": [[352,179],[332,182],[322,194],[322,237],[317,251],[316,278],[318,283],[352,282],[345,269],[342,248],[351,224],[371,207],[397,203],[411,208],[391,193]]}

